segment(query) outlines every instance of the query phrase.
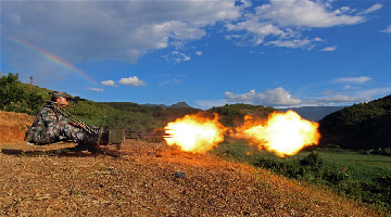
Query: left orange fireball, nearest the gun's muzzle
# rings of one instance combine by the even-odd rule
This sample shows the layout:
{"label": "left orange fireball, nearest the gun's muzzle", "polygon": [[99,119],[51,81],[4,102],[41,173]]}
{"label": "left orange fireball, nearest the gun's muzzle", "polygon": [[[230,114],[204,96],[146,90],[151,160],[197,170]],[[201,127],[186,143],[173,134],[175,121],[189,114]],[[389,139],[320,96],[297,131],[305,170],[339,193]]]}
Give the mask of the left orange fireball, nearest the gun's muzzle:
{"label": "left orange fireball, nearest the gun's muzzle", "polygon": [[177,144],[187,152],[205,153],[224,141],[227,129],[217,118],[217,115],[214,115],[213,119],[200,114],[186,115],[164,127],[166,133],[171,135],[164,140],[167,144]]}

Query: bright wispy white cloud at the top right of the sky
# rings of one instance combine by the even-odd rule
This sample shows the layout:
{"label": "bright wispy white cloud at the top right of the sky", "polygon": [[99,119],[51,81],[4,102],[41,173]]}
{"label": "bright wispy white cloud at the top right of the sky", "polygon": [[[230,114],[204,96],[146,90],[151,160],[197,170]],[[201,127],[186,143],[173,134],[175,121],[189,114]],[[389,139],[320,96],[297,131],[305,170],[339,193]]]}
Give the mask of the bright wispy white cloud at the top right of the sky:
{"label": "bright wispy white cloud at the top right of the sky", "polygon": [[[226,36],[238,44],[275,46],[283,48],[306,48],[312,50],[319,37],[303,36],[303,30],[312,27],[335,27],[354,25],[365,21],[362,15],[354,15],[349,7],[332,10],[329,1],[310,0],[270,0],[256,7],[254,13],[247,11],[243,18],[226,24]],[[353,14],[353,15],[352,15]]]}

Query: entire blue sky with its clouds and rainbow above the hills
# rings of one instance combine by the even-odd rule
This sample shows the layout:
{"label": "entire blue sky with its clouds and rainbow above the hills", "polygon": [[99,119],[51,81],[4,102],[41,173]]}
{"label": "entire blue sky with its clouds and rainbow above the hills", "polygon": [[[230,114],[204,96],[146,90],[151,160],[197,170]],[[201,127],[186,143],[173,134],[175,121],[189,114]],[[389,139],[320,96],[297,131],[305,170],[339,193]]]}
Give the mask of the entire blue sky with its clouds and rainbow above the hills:
{"label": "entire blue sky with its clouds and rainbow above the hills", "polygon": [[351,105],[391,93],[391,1],[1,1],[1,72],[93,101]]}

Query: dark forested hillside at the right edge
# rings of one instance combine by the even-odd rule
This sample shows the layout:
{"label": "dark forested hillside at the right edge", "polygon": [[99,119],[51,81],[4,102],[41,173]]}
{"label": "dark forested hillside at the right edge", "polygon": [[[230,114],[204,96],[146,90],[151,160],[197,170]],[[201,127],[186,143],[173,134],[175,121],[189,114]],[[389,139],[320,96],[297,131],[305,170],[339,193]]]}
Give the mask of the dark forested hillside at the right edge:
{"label": "dark forested hillside at the right edge", "polygon": [[320,122],[321,144],[348,149],[391,146],[391,95],[354,104],[332,113]]}

